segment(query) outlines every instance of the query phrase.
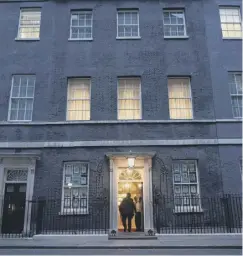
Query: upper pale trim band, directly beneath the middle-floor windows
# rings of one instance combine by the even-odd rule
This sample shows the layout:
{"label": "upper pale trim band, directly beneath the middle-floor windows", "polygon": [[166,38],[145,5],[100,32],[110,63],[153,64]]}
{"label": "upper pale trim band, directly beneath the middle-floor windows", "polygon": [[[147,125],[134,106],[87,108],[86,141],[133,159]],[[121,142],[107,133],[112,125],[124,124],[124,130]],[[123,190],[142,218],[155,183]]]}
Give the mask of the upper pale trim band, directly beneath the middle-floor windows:
{"label": "upper pale trim band, directly beneath the middle-floor windows", "polygon": [[242,123],[241,118],[232,119],[168,119],[168,120],[84,120],[84,121],[57,121],[57,122],[45,122],[45,121],[0,121],[0,126],[8,125],[25,125],[25,126],[35,126],[35,125],[90,125],[90,124],[183,124],[183,123]]}

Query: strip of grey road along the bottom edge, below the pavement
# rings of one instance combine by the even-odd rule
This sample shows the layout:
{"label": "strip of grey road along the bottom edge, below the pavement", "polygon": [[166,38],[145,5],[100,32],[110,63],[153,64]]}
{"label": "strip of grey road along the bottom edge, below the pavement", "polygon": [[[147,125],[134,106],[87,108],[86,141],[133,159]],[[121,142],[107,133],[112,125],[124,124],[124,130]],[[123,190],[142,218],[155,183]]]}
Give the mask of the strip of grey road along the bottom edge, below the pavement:
{"label": "strip of grey road along the bottom edge, below the pavement", "polygon": [[0,249],[0,255],[242,255],[241,249]]}

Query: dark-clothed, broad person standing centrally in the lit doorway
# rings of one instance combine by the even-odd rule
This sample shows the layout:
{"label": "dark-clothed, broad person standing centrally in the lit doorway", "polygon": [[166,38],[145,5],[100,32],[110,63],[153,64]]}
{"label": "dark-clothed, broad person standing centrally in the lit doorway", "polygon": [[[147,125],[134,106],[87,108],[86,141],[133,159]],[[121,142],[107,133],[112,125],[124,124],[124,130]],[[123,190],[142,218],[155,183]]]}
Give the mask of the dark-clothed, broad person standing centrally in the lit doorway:
{"label": "dark-clothed, broad person standing centrally in the lit doorway", "polygon": [[136,212],[136,208],[130,193],[127,193],[127,196],[122,200],[119,206],[119,211],[122,218],[122,225],[124,227],[124,232],[126,232],[127,230],[127,222],[128,222],[128,232],[131,232],[132,218],[134,216],[134,212]]}

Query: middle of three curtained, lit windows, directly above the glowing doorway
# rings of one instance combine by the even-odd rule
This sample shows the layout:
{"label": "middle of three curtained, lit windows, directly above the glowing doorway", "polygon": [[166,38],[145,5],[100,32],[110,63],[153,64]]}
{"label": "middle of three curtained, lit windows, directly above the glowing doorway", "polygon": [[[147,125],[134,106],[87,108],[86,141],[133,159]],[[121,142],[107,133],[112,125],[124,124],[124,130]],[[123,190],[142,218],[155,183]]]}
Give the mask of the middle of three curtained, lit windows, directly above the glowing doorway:
{"label": "middle of three curtained, lit windows, directly above the glowing doorway", "polygon": [[118,79],[118,119],[141,119],[141,84],[139,78]]}

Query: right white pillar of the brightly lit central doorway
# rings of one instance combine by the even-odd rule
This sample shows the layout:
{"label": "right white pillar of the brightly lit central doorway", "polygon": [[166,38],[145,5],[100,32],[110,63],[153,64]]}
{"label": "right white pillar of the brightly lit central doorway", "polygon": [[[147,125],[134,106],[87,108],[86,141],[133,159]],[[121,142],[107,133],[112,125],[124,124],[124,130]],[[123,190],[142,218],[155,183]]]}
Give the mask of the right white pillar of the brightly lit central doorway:
{"label": "right white pillar of the brightly lit central doorway", "polygon": [[153,231],[152,159],[144,159],[144,233]]}

